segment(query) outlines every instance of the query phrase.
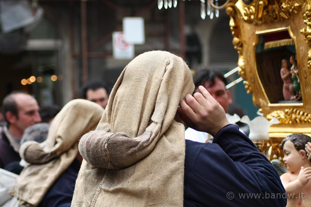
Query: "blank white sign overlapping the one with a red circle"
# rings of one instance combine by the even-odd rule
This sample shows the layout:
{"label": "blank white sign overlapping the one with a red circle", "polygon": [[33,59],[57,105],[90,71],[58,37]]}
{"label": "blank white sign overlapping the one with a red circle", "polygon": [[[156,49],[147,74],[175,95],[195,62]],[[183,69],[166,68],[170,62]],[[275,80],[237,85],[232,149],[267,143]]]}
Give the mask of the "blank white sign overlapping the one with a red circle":
{"label": "blank white sign overlapping the one with a red circle", "polygon": [[122,20],[124,38],[136,45],[145,44],[145,25],[142,17],[124,17]]}

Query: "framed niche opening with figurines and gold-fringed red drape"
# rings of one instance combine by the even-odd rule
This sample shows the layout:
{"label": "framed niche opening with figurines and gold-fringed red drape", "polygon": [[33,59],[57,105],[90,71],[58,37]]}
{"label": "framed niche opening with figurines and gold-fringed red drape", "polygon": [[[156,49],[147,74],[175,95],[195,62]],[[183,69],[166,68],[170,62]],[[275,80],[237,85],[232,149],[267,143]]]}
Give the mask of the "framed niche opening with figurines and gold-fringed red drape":
{"label": "framed niche opening with figurines and gold-fringed red drape", "polygon": [[296,45],[289,31],[261,33],[256,41],[256,68],[268,101],[302,103]]}

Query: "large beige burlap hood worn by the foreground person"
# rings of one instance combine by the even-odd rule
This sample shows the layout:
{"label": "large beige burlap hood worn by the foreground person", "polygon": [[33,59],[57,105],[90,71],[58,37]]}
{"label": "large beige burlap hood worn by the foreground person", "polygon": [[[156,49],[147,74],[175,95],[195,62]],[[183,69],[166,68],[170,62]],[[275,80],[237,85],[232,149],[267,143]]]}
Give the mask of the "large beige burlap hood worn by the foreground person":
{"label": "large beige burlap hood worn by the foreground person", "polygon": [[194,85],[185,62],[151,51],[123,70],[84,158],[72,206],[183,206],[184,126],[174,120]]}

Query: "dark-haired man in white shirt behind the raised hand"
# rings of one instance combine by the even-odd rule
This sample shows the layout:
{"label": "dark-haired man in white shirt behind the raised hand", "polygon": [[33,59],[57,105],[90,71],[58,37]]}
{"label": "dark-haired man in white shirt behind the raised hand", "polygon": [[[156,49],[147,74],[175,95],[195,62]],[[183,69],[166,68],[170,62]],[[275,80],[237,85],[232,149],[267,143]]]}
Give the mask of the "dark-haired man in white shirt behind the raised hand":
{"label": "dark-haired man in white shirt behind the raised hand", "polygon": [[[200,92],[199,86],[203,86],[211,96],[222,106],[225,113],[228,113],[228,107],[232,103],[230,91],[226,89],[227,81],[224,75],[216,70],[201,70],[194,74],[193,83],[194,92]],[[205,132],[199,132],[188,128],[185,131],[185,139],[197,142],[211,142],[213,137]]]}

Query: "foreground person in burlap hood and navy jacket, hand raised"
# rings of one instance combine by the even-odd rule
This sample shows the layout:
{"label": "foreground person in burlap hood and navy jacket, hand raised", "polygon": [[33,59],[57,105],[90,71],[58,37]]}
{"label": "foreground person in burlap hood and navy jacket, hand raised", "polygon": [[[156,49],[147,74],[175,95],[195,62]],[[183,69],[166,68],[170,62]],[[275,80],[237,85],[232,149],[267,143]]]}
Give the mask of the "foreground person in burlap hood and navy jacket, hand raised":
{"label": "foreground person in burlap hood and navy jacket, hand raised", "polygon": [[[228,199],[285,193],[277,172],[190,70],[165,51],[137,56],[123,70],[96,130],[79,143],[84,158],[73,207],[274,206],[286,199]],[[179,107],[180,106],[180,107]],[[182,118],[214,136],[184,139]]]}

